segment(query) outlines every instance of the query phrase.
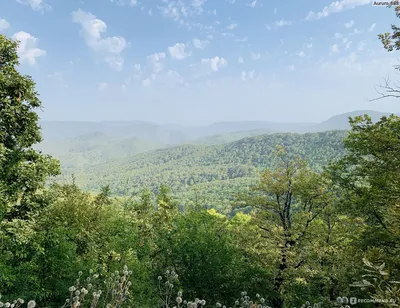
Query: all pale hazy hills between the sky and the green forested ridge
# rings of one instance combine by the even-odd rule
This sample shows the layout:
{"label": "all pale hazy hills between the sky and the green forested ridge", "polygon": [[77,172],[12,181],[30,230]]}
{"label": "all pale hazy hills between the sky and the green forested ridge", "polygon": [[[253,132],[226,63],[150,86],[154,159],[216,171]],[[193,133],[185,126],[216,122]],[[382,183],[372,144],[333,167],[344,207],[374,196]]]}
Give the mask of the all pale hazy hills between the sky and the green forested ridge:
{"label": "all pale hazy hills between the sky and the green forested ridge", "polygon": [[387,113],[359,110],[313,123],[266,121],[218,122],[199,127],[141,121],[40,123],[44,141],[36,146],[60,159],[64,170],[82,168],[182,144],[218,145],[274,133],[307,133],[349,128],[348,117],[368,114],[374,121]]}

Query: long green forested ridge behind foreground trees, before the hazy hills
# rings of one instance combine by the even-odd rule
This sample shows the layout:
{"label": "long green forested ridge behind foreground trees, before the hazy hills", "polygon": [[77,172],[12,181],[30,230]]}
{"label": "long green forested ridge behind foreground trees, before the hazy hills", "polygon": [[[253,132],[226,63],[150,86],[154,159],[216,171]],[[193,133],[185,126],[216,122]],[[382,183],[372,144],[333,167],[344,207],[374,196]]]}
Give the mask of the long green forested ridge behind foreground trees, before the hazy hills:
{"label": "long green forested ridge behind foreground trees, before the hazy hills", "polygon": [[[207,195],[205,205],[224,210],[227,203],[222,200],[234,197],[229,187],[233,192],[236,186],[249,186],[261,170],[273,167],[277,146],[285,147],[292,157],[304,158],[312,169],[319,171],[343,155],[345,135],[345,131],[277,133],[222,145],[181,145],[85,168],[68,166],[63,168],[59,180],[70,181],[74,175],[76,183],[85,190],[99,191],[101,186],[110,185],[118,195],[137,193],[143,188],[157,191],[160,185],[167,185],[178,198],[193,201],[195,193]],[[210,189],[211,194],[207,193]]]}

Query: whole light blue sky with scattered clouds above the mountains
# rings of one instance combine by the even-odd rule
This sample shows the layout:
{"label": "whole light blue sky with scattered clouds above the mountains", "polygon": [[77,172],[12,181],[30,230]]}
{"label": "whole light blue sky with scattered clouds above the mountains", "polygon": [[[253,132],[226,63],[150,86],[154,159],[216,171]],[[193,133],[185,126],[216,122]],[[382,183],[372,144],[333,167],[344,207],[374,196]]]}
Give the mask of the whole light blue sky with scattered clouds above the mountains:
{"label": "whole light blue sky with scattered clouds above the mountains", "polygon": [[377,96],[397,23],[370,0],[1,0],[42,120],[320,122]]}

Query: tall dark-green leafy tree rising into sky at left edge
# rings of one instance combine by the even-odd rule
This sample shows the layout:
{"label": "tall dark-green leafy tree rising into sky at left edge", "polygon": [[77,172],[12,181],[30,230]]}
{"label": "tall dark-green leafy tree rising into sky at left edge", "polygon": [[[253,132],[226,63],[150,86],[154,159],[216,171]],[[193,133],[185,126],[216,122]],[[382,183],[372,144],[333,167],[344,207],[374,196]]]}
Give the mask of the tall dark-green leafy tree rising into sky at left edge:
{"label": "tall dark-green leafy tree rising into sky at left edge", "polygon": [[43,188],[59,163],[35,151],[41,139],[41,107],[35,82],[17,71],[18,42],[0,35],[0,217],[26,218],[32,210],[24,202]]}

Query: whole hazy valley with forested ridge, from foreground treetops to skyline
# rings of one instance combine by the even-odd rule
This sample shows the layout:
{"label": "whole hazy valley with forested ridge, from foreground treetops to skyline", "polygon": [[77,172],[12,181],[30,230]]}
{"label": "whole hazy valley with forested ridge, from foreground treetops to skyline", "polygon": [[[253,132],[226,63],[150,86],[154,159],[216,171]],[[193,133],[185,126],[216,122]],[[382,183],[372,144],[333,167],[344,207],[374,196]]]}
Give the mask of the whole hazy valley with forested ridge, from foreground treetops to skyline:
{"label": "whole hazy valley with forested ridge, from foreground treetops to skyline", "polygon": [[[232,122],[188,130],[148,123],[43,123],[45,139],[37,148],[61,161],[58,183],[74,178],[89,192],[109,185],[115,196],[135,195],[144,188],[156,193],[166,185],[181,205],[193,206],[201,198],[202,207],[229,213],[235,196],[274,166],[277,146],[321,171],[343,156],[348,117],[366,112],[375,121],[385,115],[355,111],[308,126]],[[60,132],[66,138],[55,140],[51,133],[61,127],[68,134]],[[244,128],[248,130],[240,130]]]}

